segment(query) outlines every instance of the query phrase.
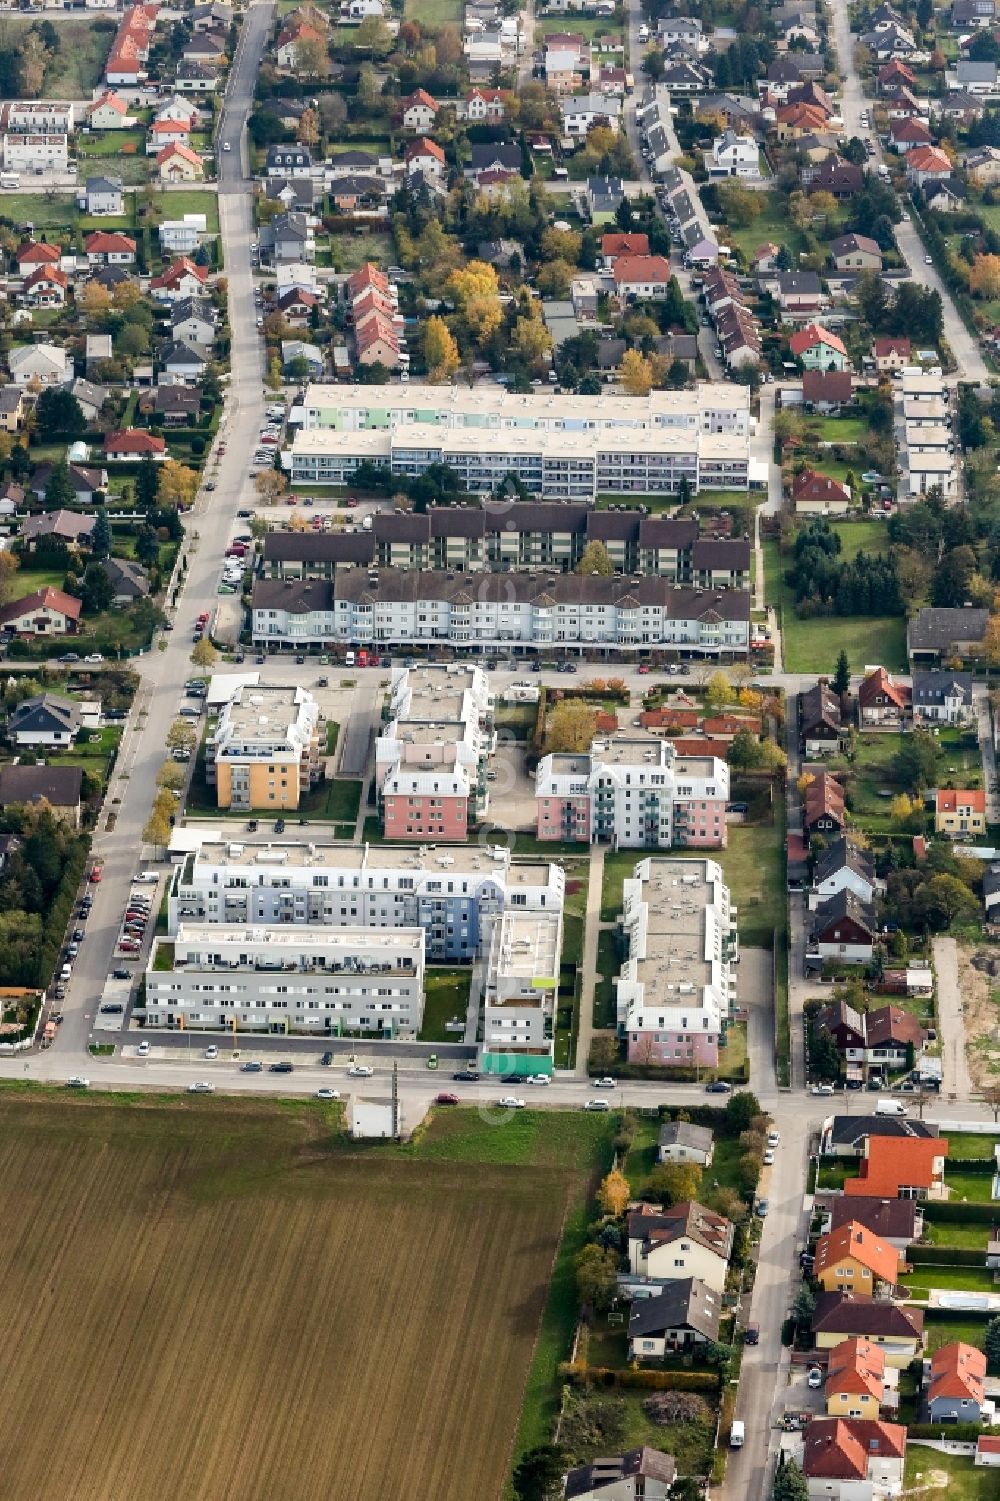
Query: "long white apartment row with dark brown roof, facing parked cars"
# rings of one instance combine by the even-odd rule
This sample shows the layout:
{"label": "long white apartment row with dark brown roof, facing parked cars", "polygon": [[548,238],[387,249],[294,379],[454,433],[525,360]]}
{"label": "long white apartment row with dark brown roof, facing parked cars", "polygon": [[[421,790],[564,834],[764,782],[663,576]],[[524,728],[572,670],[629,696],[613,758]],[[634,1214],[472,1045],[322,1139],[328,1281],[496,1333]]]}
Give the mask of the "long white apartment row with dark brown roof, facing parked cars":
{"label": "long white apartment row with dark brown roof, facing parked cars", "polygon": [[258,579],[258,648],[321,644],[479,645],[483,650],[604,648],[608,657],[670,648],[692,657],[745,657],[749,594],[673,587],[662,578],[578,573],[465,575],[354,567],[333,579]]}

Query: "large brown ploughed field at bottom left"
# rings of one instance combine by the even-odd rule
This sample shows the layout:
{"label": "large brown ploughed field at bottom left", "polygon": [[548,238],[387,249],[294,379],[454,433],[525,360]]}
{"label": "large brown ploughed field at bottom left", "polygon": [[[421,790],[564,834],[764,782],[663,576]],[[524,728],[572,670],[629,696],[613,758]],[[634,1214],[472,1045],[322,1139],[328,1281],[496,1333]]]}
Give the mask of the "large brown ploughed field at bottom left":
{"label": "large brown ploughed field at bottom left", "polygon": [[339,1112],[0,1093],[5,1490],[498,1495],[607,1123],[356,1150]]}

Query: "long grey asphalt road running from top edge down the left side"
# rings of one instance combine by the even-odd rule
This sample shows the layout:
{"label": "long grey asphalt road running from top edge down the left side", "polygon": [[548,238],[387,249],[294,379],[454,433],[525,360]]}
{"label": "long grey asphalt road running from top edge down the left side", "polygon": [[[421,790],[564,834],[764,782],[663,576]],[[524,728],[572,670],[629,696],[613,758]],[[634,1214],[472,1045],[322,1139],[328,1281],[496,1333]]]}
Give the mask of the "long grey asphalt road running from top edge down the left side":
{"label": "long grey asphalt road running from top edge down the left side", "polygon": [[[255,5],[248,12],[219,131],[221,140],[234,143],[233,152],[219,153],[224,174],[219,221],[233,330],[233,374],[219,428],[219,441],[227,452],[219,458],[218,447],[213,450],[206,473],[216,488],[212,494],[203,489],[194,510],[188,513],[188,573],[174,611],[176,629],[162,633],[152,653],[137,663],[143,689],[132,710],[113,793],[120,802],[108,805],[116,815],[114,829],[107,830],[102,814],[93,841],[93,854],[104,860],[104,880],[90,887],[95,904],[86,925],[87,938],[62,1004],[65,1021],[54,1046],[44,1055],[53,1069],[62,1067],[63,1060],[71,1060],[72,1067],[66,1073],[84,1072],[96,1007],[105,980],[116,967],[114,943],[129,883],[137,869],[153,863],[155,851],[143,845],[143,827],[153,803],[156,773],[165,758],[167,731],[182,702],[183,683],[191,674],[192,627],[198,614],[213,609],[218,602],[222,552],[233,531],[236,510],[248,498],[248,459],[266,405],[263,347],[257,335],[249,261],[251,183],[242,176],[243,152],[236,146],[245,138],[270,14],[270,5]],[[120,776],[122,769],[128,770],[128,776]]]}

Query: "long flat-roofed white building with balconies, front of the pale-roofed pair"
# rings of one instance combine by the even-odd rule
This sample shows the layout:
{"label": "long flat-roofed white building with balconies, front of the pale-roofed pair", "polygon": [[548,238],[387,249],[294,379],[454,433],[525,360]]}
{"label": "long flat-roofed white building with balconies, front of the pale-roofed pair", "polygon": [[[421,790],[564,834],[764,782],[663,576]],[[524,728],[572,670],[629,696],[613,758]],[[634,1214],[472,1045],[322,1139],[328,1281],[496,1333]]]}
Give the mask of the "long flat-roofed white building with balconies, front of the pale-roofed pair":
{"label": "long flat-roofed white building with balconies, front of the pale-roofed pair", "polygon": [[694,428],[601,428],[593,431],[443,428],[411,423],[365,431],[303,429],[290,450],[300,485],[348,485],[362,464],[414,479],[447,464],[462,489],[488,495],[511,476],[544,500],[595,501],[601,494],[676,495],[748,489],[749,440]]}

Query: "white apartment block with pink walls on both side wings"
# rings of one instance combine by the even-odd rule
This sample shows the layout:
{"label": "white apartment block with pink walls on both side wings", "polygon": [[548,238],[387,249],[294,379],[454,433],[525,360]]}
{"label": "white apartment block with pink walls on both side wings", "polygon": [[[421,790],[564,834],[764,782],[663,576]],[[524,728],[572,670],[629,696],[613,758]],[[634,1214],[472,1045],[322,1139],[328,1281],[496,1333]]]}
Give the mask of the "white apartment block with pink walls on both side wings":
{"label": "white apartment block with pink walls on both side wings", "polygon": [[730,769],[718,757],[679,757],[658,735],[614,735],[595,740],[590,755],[542,757],[536,836],[616,850],[722,848],[728,796]]}

